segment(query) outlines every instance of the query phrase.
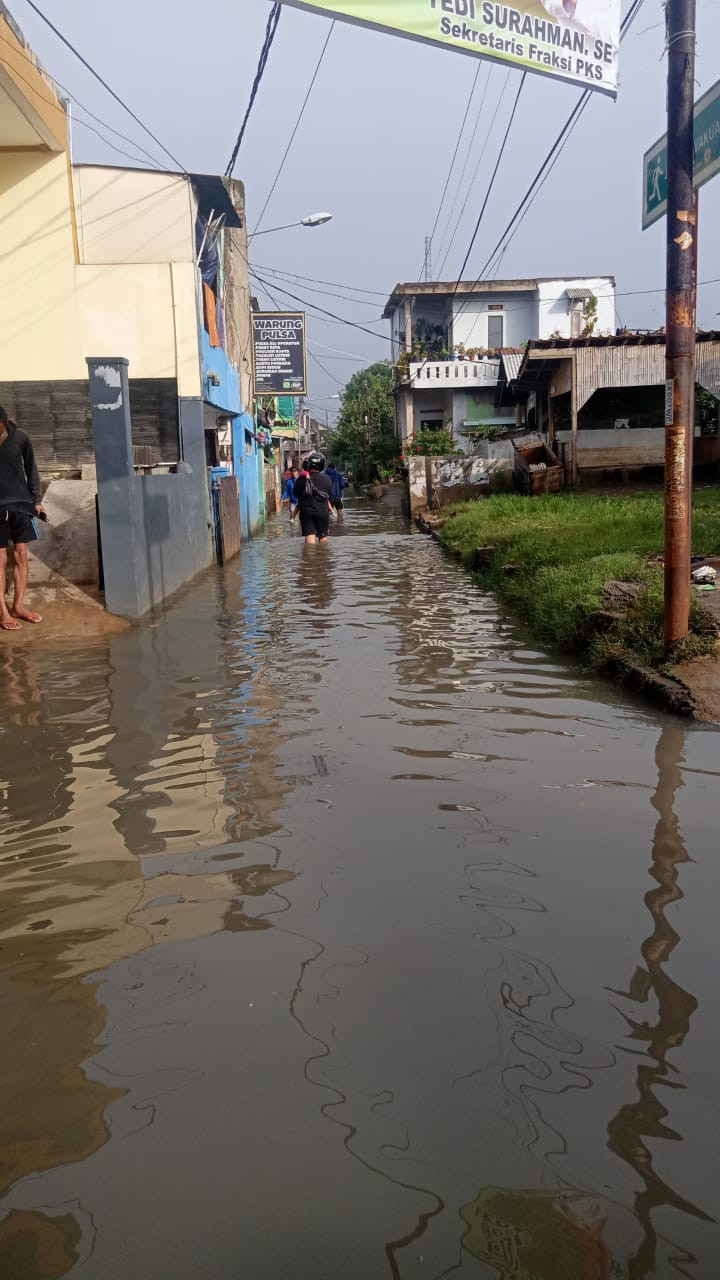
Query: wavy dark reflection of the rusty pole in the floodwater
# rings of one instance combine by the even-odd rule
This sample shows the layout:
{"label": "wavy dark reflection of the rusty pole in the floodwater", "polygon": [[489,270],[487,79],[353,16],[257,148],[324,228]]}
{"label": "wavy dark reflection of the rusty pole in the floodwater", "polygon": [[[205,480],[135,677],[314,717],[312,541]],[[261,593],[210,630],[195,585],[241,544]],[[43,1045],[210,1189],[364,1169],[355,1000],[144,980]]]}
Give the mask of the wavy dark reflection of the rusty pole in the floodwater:
{"label": "wavy dark reflection of the rusty pole in the floodwater", "polygon": [[626,1019],[633,1039],[647,1042],[646,1057],[650,1061],[646,1060],[638,1066],[637,1101],[621,1107],[607,1126],[610,1149],[630,1165],[644,1184],[644,1189],[635,1196],[635,1213],[643,1229],[643,1240],[628,1266],[630,1280],[642,1280],[644,1276],[655,1275],[657,1263],[657,1234],[652,1222],[655,1208],[669,1204],[693,1217],[711,1221],[702,1210],[678,1196],[656,1174],[652,1165],[652,1152],[643,1142],[643,1138],[670,1138],[674,1140],[680,1138],[674,1129],[664,1124],[667,1108],[662,1106],[653,1089],[656,1085],[683,1087],[669,1079],[673,1066],[667,1061],[667,1055],[670,1050],[679,1048],[684,1042],[691,1018],[697,1009],[694,996],[683,991],[664,969],[680,941],[665,918],[665,908],[684,897],[678,883],[679,868],[691,860],[680,836],[680,824],[674,808],[675,796],[683,786],[680,763],[684,745],[685,730],[675,726],[664,728],[657,740],[655,751],[657,787],[651,803],[659,817],[652,838],[652,865],[650,868],[650,874],[657,881],[657,888],[650,890],[644,897],[644,904],[652,916],[653,931],[641,948],[647,969],[638,968],[630,991],[624,992],[633,1001],[646,1001],[650,992],[655,992],[657,1020],[653,1027],[650,1021],[635,1023],[630,1018]]}

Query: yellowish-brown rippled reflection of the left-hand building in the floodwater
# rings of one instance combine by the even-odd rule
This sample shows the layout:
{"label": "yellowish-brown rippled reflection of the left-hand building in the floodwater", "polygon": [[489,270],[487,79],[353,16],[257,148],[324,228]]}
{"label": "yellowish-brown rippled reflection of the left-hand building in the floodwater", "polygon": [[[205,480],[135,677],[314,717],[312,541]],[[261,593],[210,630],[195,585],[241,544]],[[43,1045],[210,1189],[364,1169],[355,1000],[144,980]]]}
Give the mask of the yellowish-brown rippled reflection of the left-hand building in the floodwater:
{"label": "yellowish-brown rippled reflection of the left-hand building in the floodwater", "polygon": [[[243,626],[232,603],[228,636]],[[83,1066],[106,1021],[87,975],[158,942],[269,928],[259,900],[292,879],[274,850],[243,865],[246,842],[278,828],[290,783],[277,778],[282,719],[260,655],[233,669],[208,621],[217,605],[206,585],[161,627],[109,645],[3,652],[0,724],[22,750],[0,763],[0,1194],[109,1138],[123,1089]],[[74,1248],[63,1222],[0,1216],[0,1260],[35,1251],[38,1277],[63,1275],[56,1260]]]}

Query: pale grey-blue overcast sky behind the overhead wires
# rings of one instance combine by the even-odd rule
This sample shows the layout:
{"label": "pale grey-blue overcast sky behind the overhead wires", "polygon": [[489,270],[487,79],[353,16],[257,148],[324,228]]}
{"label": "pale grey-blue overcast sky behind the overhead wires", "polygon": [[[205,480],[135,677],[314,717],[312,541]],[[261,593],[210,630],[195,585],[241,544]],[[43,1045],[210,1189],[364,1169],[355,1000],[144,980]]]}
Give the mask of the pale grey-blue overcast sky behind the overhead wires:
{"label": "pale grey-blue overcast sky behind the overhead wires", "polygon": [[[182,165],[223,173],[258,64],[269,0],[44,0],[59,29],[100,72]],[[63,47],[26,0],[8,0],[46,69],[102,120],[150,151],[158,148]],[[42,4],[41,4],[42,6]],[[626,5],[623,5],[625,12]],[[110,17],[111,15],[111,17]],[[720,4],[698,3],[697,93],[717,77]],[[284,8],[260,86],[236,175],[246,184],[250,230],[275,177],[329,19]],[[502,278],[605,275],[618,280],[619,321],[633,328],[664,323],[664,223],[641,230],[642,156],[665,132],[664,15],[661,0],[644,0],[620,51],[616,102],[594,95],[561,159],[509,246]],[[424,237],[436,220],[447,169],[477,69],[474,58],[433,49],[337,22],[297,137],[283,168],[263,228],[328,210],[333,221],[259,237],[251,262],[258,269],[338,282],[338,293],[311,293],[306,283],[277,282],[275,301],[293,307],[287,293],[378,332],[319,317],[309,319],[310,349],[327,371],[310,362],[310,393],[318,406],[363,364],[388,355],[383,298],[398,280],[416,280]],[[454,279],[484,200],[518,87],[519,70],[498,65],[488,79],[483,64],[466,142],[484,105],[451,227],[466,200],[455,237],[447,230],[465,160],[461,143],[455,178],[434,241],[434,276]],[[495,129],[488,129],[498,105]],[[529,76],[493,195],[466,275],[477,276],[489,248],[534,177],[539,160],[575,104],[579,90]],[[74,108],[74,156],[82,161],[128,164],[81,125]],[[87,118],[86,118],[87,119]],[[102,125],[91,122],[102,132]],[[132,151],[127,143],[118,146]],[[474,187],[470,177],[487,150]],[[170,166],[167,156],[160,161]],[[720,178],[701,196],[698,279],[720,276],[711,228],[720,214]],[[445,238],[445,244],[441,244]],[[450,243],[442,276],[438,268]],[[263,274],[263,273],[261,273]],[[269,282],[270,276],[265,279]],[[325,288],[325,285],[318,285]],[[377,291],[359,294],[356,291]],[[655,292],[643,292],[655,291]],[[272,306],[261,285],[260,301]],[[700,289],[698,323],[712,328],[720,312],[720,284]],[[356,357],[356,358],[351,358]]]}

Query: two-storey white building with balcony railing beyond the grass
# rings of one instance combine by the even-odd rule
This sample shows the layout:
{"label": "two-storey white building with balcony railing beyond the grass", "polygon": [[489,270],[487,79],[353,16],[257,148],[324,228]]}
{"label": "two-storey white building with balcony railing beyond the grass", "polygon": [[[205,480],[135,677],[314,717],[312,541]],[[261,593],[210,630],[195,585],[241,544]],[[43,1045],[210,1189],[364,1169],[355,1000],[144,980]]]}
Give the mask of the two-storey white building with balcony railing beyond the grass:
{"label": "two-storey white building with balcony railing beyond the grass", "polygon": [[615,333],[615,279],[469,280],[397,284],[383,312],[396,366],[397,434],[452,422],[470,452],[474,433],[515,422],[496,411],[500,353],[530,338]]}

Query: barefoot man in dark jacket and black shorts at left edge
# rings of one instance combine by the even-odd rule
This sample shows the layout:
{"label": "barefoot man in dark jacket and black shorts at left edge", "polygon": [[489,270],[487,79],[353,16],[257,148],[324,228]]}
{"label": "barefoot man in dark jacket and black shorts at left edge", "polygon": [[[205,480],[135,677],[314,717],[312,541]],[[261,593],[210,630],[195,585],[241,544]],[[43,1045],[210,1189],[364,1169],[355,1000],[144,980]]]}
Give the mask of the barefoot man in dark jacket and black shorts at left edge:
{"label": "barefoot man in dark jacket and black shorts at left edge", "polygon": [[[36,515],[45,515],[45,507],[32,444],[0,406],[0,631],[19,631],[20,621],[42,622],[24,603],[27,544],[37,538],[32,525]],[[12,608],[5,600],[9,543],[15,558]]]}

